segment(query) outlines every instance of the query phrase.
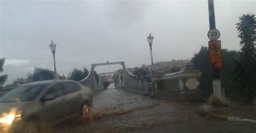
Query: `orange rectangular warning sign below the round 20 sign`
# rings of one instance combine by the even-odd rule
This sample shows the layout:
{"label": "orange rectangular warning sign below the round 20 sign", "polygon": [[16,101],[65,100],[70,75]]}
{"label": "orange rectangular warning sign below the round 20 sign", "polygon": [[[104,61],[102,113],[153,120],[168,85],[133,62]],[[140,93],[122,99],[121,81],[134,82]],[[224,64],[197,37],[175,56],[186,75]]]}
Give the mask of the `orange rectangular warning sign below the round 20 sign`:
{"label": "orange rectangular warning sign below the round 20 sign", "polygon": [[209,41],[208,42],[210,62],[212,68],[221,68],[222,67],[222,57],[221,57],[221,43],[218,41]]}

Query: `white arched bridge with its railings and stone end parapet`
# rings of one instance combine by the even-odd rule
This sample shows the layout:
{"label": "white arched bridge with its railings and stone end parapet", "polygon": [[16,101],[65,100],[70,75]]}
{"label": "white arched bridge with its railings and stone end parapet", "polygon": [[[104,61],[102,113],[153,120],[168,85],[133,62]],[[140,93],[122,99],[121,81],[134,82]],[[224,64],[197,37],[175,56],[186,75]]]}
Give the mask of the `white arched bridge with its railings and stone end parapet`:
{"label": "white arched bridge with its railings and stone end parapet", "polygon": [[[187,65],[176,73],[167,73],[158,76],[154,66],[150,72],[142,75],[133,75],[125,66],[125,62],[107,62],[91,64],[89,74],[79,82],[90,87],[94,94],[104,90],[101,76],[97,82],[95,68],[103,65],[122,65],[122,72],[117,73],[117,88],[124,91],[152,95],[154,97],[166,98],[179,101],[201,101],[201,90],[199,88],[199,78],[201,72]],[[104,73],[102,73],[104,74]],[[106,74],[106,73],[105,73]]]}

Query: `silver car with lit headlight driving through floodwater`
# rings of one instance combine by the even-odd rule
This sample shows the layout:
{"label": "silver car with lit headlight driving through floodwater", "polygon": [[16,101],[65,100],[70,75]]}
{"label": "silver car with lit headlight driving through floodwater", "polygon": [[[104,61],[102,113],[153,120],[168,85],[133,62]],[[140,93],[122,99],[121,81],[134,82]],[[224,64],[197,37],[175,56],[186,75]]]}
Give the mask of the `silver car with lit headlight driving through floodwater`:
{"label": "silver car with lit headlight driving through floodwater", "polygon": [[0,98],[0,129],[21,132],[29,123],[87,115],[91,107],[92,91],[73,80],[28,83]]}

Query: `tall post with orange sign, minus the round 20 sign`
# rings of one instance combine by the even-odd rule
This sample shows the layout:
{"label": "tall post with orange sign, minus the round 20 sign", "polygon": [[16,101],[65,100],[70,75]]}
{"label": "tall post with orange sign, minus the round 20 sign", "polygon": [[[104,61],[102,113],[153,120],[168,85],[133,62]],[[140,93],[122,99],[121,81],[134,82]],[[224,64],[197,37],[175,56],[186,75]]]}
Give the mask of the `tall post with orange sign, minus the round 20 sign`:
{"label": "tall post with orange sign, minus the round 20 sign", "polygon": [[216,29],[215,26],[215,13],[214,13],[214,2],[213,0],[208,0],[208,11],[209,11],[209,25],[210,31],[208,32],[209,41],[209,55],[211,61],[211,67],[213,72],[213,95],[216,98],[222,98],[221,86],[220,86],[220,68],[222,67],[222,58],[221,58],[221,44],[220,41],[216,41],[220,32]]}

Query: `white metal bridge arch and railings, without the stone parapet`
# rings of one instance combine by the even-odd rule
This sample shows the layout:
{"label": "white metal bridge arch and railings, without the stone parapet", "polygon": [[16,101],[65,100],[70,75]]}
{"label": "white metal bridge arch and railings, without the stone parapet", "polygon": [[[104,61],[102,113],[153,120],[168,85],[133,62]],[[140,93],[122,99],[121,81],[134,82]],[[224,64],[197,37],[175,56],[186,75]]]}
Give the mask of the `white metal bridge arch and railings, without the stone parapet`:
{"label": "white metal bridge arch and railings, without the stone parapet", "polygon": [[[123,66],[122,76],[118,73],[118,83],[117,87],[121,88],[125,91],[137,92],[137,93],[147,93],[152,94],[152,85],[151,85],[151,73],[145,73],[144,75],[133,75],[127,68],[125,67],[124,62],[111,62],[111,63],[98,63],[92,64],[91,70],[89,74],[79,83],[83,84],[84,86],[90,87],[94,94],[99,93],[100,91],[104,90],[104,85],[102,83],[102,79],[97,82],[96,75],[95,75],[95,68],[100,65],[113,65],[113,64],[120,64]],[[122,79],[121,79],[122,77]]]}

